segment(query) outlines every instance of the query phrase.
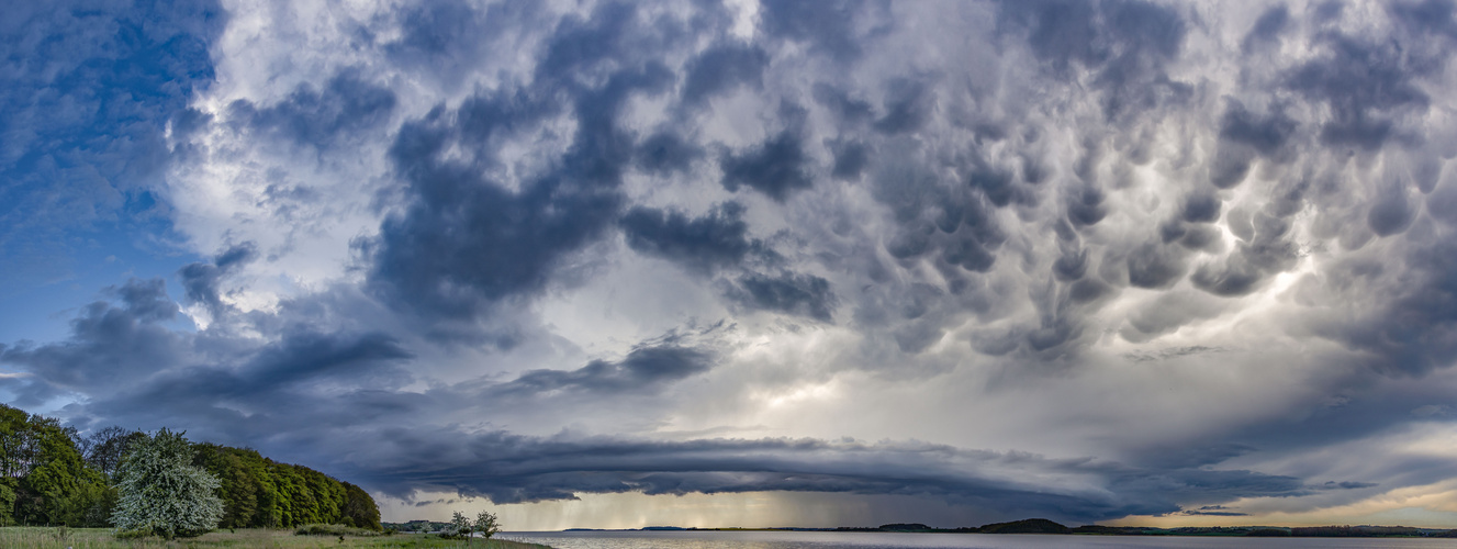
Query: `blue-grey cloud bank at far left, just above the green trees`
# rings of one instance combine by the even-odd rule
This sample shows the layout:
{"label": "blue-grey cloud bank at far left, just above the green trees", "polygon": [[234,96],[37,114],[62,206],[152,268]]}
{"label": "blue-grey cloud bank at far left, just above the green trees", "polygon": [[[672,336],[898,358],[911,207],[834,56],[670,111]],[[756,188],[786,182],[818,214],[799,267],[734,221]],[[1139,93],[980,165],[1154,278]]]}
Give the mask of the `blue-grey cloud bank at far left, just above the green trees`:
{"label": "blue-grey cloud bank at far left, just above the green trees", "polygon": [[[230,255],[223,253],[217,264],[229,266]],[[118,303],[96,301],[83,309],[71,320],[68,339],[22,344],[0,354],[0,361],[34,374],[22,399],[26,392],[106,393],[93,412],[118,421],[208,416],[229,400],[283,406],[288,392],[323,379],[363,383],[373,379],[377,366],[412,357],[395,338],[377,332],[319,333],[291,326],[277,342],[262,345],[224,333],[179,332],[166,326],[178,316],[178,306],[162,280],[133,280],[109,294]]]}

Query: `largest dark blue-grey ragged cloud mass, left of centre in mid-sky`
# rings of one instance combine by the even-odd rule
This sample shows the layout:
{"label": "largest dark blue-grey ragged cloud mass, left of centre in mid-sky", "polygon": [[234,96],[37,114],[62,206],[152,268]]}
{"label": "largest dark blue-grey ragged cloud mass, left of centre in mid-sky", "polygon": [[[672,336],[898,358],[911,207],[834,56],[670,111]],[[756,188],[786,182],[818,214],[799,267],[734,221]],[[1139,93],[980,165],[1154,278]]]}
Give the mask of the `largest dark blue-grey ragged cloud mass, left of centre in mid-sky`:
{"label": "largest dark blue-grey ragged cloud mass, left of centre in mid-sky", "polygon": [[[628,135],[613,127],[616,111],[640,90],[661,92],[664,77],[651,66],[629,68],[600,89],[580,92],[580,125],[562,166],[525,181],[492,181],[474,167],[495,162],[490,146],[497,133],[542,124],[565,105],[503,90],[408,122],[390,157],[408,183],[409,207],[385,221],[379,239],[361,245],[372,256],[370,280],[425,317],[469,317],[543,290],[564,255],[594,242],[616,220],[624,202],[616,186],[631,159]],[[446,153],[453,147],[472,150],[475,159],[452,159]]]}

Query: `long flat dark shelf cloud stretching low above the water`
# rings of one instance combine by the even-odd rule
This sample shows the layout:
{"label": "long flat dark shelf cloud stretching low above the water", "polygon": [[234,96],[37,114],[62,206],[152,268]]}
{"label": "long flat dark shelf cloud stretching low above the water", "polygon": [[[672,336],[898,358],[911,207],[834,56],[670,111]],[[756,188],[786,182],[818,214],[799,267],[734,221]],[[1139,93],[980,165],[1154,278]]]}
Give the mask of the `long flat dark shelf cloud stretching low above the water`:
{"label": "long flat dark shelf cloud stretching low above the water", "polygon": [[[388,441],[372,451],[377,467],[354,463],[342,467],[386,486],[390,494],[452,489],[466,497],[484,495],[497,504],[635,491],[816,491],[927,495],[954,504],[1084,521],[1173,513],[1180,502],[1218,504],[1240,497],[1305,492],[1298,479],[1247,470],[1138,469],[915,443],[812,438],[664,443],[536,438],[507,433],[459,437],[449,431],[390,433]],[[444,443],[447,440],[460,443]],[[462,447],[465,451],[457,451]],[[440,454],[452,459],[420,459]],[[1021,481],[1042,475],[1081,478],[1090,485],[1048,489]],[[421,483],[423,479],[428,481]]]}

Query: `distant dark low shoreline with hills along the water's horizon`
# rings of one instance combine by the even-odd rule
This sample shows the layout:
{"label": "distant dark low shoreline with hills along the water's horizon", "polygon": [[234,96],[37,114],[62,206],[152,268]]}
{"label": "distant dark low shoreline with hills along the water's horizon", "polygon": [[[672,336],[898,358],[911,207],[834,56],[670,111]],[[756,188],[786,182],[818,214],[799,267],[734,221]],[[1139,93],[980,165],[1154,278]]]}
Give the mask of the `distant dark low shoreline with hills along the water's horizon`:
{"label": "distant dark low shoreline with hills along the water's horizon", "polygon": [[[427,521],[412,521],[420,524]],[[385,523],[389,529],[393,524]],[[423,526],[423,524],[421,524]],[[1026,518],[1010,523],[992,523],[959,529],[935,529],[921,523],[895,523],[876,527],[775,527],[775,529],[698,529],[678,526],[648,526],[643,529],[567,529],[562,532],[886,532],[886,533],[934,533],[934,534],[1068,534],[1068,536],[1225,536],[1225,537],[1457,537],[1457,530],[1418,529],[1410,526],[1187,526],[1157,529],[1144,526],[1099,526],[1084,524],[1067,527],[1046,518]]]}

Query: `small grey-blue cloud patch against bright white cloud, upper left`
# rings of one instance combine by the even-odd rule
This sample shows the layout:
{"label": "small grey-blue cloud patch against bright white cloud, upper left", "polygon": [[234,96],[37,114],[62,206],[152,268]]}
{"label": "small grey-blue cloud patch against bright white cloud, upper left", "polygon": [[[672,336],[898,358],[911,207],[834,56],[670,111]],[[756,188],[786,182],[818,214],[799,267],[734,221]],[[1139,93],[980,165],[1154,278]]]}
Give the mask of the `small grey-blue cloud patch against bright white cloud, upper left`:
{"label": "small grey-blue cloud patch against bright white cloud, upper left", "polygon": [[274,105],[235,100],[227,115],[240,127],[322,149],[386,122],[395,102],[395,92],[360,80],[357,70],[345,70],[331,77],[322,90],[302,83]]}

